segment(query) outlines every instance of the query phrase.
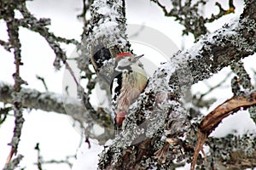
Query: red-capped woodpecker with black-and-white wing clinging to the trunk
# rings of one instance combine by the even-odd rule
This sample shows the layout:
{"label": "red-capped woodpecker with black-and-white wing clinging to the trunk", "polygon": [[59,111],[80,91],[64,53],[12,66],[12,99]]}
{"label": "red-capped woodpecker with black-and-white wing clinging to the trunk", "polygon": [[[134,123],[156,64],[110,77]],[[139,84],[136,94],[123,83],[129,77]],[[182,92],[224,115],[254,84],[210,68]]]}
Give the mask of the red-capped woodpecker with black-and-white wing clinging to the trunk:
{"label": "red-capped woodpecker with black-and-white wing clinging to the trunk", "polygon": [[142,57],[131,53],[117,54],[113,67],[111,92],[115,113],[115,130],[122,129],[129,106],[137,99],[147,85],[148,78],[143,65],[138,60]]}

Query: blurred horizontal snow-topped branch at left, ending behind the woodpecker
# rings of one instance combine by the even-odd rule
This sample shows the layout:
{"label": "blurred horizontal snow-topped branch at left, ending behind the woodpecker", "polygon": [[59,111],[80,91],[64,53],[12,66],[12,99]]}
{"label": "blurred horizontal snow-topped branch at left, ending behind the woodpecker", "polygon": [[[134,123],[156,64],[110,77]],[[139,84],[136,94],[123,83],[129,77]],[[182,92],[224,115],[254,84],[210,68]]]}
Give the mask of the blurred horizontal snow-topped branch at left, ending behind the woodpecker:
{"label": "blurred horizontal snow-topped branch at left, ending behind the woodpecker", "polygon": [[[14,88],[4,82],[0,82],[0,102],[12,104],[12,93]],[[38,92],[35,89],[22,88],[20,95],[23,96],[22,105],[25,108],[39,109],[42,111],[54,111],[60,114],[67,114],[79,122],[94,122],[104,128],[105,133],[94,134],[93,131],[86,131],[92,139],[97,139],[101,144],[104,144],[109,138],[113,137],[113,122],[110,116],[99,108],[96,111],[96,116],[92,117],[79,99],[71,97],[63,97],[62,94],[52,92]]]}

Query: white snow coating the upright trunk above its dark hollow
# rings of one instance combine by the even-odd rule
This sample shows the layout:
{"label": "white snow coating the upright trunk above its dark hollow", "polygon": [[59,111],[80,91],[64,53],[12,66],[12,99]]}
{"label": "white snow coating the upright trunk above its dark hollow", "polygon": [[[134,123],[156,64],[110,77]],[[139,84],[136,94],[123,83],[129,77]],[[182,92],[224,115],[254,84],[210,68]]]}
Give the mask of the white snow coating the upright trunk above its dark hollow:
{"label": "white snow coating the upright trunk above its dark hollow", "polygon": [[[90,46],[94,47],[102,41],[106,48],[113,47],[119,44],[120,47],[125,47],[126,39],[122,37],[125,33],[123,23],[124,20],[121,11],[121,1],[116,0],[112,3],[106,1],[96,0],[92,4],[95,8],[92,11],[92,18],[100,19],[93,27],[93,32],[89,35]],[[103,17],[102,17],[103,15]],[[90,51],[90,50],[89,50]]]}

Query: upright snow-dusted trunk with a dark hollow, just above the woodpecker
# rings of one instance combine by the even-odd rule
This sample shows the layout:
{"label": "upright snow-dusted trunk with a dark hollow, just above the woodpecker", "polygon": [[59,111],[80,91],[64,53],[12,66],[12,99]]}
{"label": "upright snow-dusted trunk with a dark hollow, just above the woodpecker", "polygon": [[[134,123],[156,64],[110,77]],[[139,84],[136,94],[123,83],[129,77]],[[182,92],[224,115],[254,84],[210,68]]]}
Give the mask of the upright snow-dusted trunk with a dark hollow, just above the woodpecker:
{"label": "upright snow-dusted trunk with a dark hollow, just above the woodpecker", "polygon": [[96,71],[120,52],[130,51],[126,34],[125,0],[95,0],[90,8],[89,31],[83,35],[78,66],[84,70],[90,60]]}

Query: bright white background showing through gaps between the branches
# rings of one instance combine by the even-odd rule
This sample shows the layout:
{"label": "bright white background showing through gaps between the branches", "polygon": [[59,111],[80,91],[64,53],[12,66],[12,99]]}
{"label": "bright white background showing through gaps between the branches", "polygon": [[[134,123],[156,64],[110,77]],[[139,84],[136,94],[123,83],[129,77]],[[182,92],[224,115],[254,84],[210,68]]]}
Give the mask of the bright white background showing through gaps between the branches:
{"label": "bright white background showing through gaps between the branches", "polygon": [[[168,2],[168,1],[162,1]],[[205,10],[205,14],[209,16],[211,12],[217,13],[218,8],[212,8],[211,5],[215,1],[211,1],[208,5],[209,8]],[[227,7],[228,1],[223,1],[224,8]],[[242,3],[240,1],[235,1],[236,14],[230,14],[224,16],[221,20],[218,20],[214,24],[208,25],[210,31],[214,31],[219,27],[223,26],[225,22],[229,22],[230,19],[238,17],[242,10]],[[27,7],[30,9],[32,14],[37,18],[44,17],[51,19],[51,26],[49,30],[55,32],[56,36],[75,38],[79,40],[80,34],[82,32],[82,22],[77,20],[76,16],[82,11],[82,1],[81,0],[34,0],[27,3]],[[168,4],[168,3],[166,3]],[[157,8],[154,3],[150,3],[149,0],[130,0],[127,2],[127,23],[145,25],[154,28],[162,32],[166,37],[172,39],[172,41],[177,45],[177,48],[181,48],[182,41],[185,43],[185,47],[189,48],[193,45],[193,37],[182,38],[181,32],[183,26],[179,26],[172,18],[166,18],[160,8]],[[211,8],[210,8],[211,7]],[[17,14],[19,16],[19,14]],[[0,39],[7,40],[6,27],[3,21],[0,21]],[[148,35],[150,37],[151,35]],[[52,63],[55,59],[55,54],[49,48],[47,42],[43,37],[40,37],[38,33],[27,31],[24,28],[20,29],[20,41],[22,44],[22,61],[25,65],[21,66],[21,77],[26,80],[29,85],[25,88],[36,88],[44,92],[43,83],[38,81],[36,75],[44,77],[48,85],[49,91],[61,94],[62,92],[62,78],[63,71],[55,71]],[[67,56],[73,53],[74,46],[62,45],[67,51]],[[148,47],[146,44],[139,43],[139,45],[133,47],[136,54],[145,54],[145,58],[152,61],[154,56],[158,55],[161,57],[161,52],[156,50],[154,47]],[[165,53],[164,53],[165,54]],[[165,56],[162,56],[163,61]],[[14,56],[9,54],[2,47],[0,48],[0,81],[14,83],[12,74],[15,71]],[[249,57],[244,59],[246,61],[247,68],[253,68],[253,63],[255,61],[254,57]],[[254,67],[255,68],[255,67]],[[229,69],[225,68],[222,73],[228,72]],[[250,71],[250,70],[247,70]],[[250,73],[252,73],[250,71]],[[224,74],[218,77],[212,77],[207,80],[208,84],[214,82],[215,85],[218,81],[222,80]],[[227,85],[230,81],[227,82]],[[199,90],[200,89],[200,90]],[[193,91],[207,91],[207,85],[200,82],[193,87]],[[212,105],[210,111],[217,105],[221,104],[225,99],[232,96],[230,90],[226,90],[224,93],[221,90],[214,91],[212,96],[218,94],[218,102]],[[211,95],[208,96],[211,97]],[[1,104],[0,104],[1,105]],[[207,113],[206,111],[205,113]],[[79,146],[80,134],[72,127],[72,122],[67,116],[62,116],[60,114],[55,114],[53,112],[44,111],[24,111],[23,112],[26,122],[22,129],[21,141],[19,145],[19,154],[25,156],[20,163],[20,167],[26,167],[26,170],[37,169],[34,162],[37,160],[37,151],[34,150],[35,145],[39,142],[41,148],[41,154],[44,156],[44,160],[50,159],[63,159],[67,155],[73,155]],[[246,122],[246,123],[241,123]],[[247,130],[255,130],[253,127],[253,122],[250,122],[247,114],[242,112],[236,114],[235,116],[229,117],[224,120],[224,122],[218,127],[214,132],[218,136],[224,135],[220,132],[232,132],[235,128],[239,129],[238,133],[244,133]],[[225,127],[225,128],[224,128]],[[4,162],[9,154],[10,147],[7,145],[13,135],[14,128],[14,118],[9,117],[6,122],[0,127],[0,168],[3,167]],[[224,130],[222,129],[224,128]],[[94,169],[96,160],[96,154],[92,154],[99,151],[99,148],[93,143],[93,148],[87,150],[87,145],[83,144],[79,150],[78,157],[79,161],[76,161],[75,168],[79,169],[81,162],[84,169]],[[87,155],[86,155],[87,154]],[[88,157],[91,156],[91,159]],[[87,158],[85,158],[87,157]],[[83,160],[86,159],[86,160]],[[93,163],[94,162],[94,163]],[[81,169],[83,169],[81,168]],[[66,165],[60,167],[49,165],[44,165],[44,169],[55,170],[55,169],[70,169]]]}

